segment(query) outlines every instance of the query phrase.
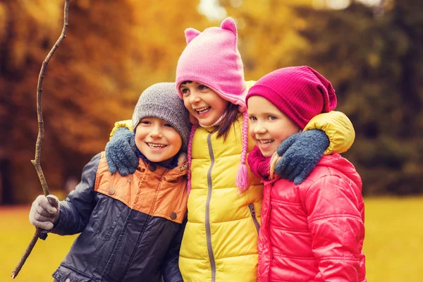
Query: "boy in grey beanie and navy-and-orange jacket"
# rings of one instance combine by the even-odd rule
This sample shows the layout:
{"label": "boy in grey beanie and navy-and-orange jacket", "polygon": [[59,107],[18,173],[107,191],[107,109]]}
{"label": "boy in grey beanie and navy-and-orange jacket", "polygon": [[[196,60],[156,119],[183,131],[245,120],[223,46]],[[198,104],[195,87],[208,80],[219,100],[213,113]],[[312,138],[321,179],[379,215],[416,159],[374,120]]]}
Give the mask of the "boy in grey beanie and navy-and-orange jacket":
{"label": "boy in grey beanie and navy-and-orange jacket", "polygon": [[102,152],[85,166],[66,200],[40,195],[33,202],[34,226],[59,235],[80,233],[55,281],[183,281],[178,256],[190,123],[174,83],[142,93],[130,134],[139,157],[134,173],[109,173]]}

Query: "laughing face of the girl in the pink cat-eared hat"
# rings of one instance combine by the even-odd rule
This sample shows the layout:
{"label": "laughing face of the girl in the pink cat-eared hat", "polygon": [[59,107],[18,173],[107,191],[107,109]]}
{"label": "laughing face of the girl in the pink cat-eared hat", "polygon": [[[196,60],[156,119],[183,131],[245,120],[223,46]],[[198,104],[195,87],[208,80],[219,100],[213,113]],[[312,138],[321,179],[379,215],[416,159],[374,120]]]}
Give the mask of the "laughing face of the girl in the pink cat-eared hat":
{"label": "laughing face of the girl in the pink cat-eared hat", "polygon": [[204,127],[214,125],[226,111],[228,102],[207,85],[185,81],[180,84],[179,89],[185,108]]}

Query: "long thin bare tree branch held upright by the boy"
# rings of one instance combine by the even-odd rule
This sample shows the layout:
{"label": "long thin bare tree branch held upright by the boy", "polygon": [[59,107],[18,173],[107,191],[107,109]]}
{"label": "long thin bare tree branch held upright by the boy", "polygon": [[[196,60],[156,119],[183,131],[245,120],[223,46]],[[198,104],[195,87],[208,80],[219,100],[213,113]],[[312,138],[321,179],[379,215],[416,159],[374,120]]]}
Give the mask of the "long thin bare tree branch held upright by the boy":
{"label": "long thin bare tree branch held upright by the boy", "polygon": [[[41,168],[41,145],[42,145],[42,139],[44,137],[44,121],[42,119],[42,104],[41,104],[41,93],[42,93],[42,82],[44,80],[44,73],[46,72],[47,65],[49,64],[49,61],[51,57],[54,55],[54,52],[59,47],[63,39],[66,38],[66,30],[68,30],[68,17],[69,17],[69,1],[65,0],[65,8],[64,8],[64,16],[63,16],[63,30],[61,32],[61,35],[59,39],[57,39],[56,44],[54,44],[54,47],[51,48],[49,51],[49,54],[47,55],[46,59],[42,62],[41,70],[39,71],[38,76],[38,85],[37,85],[37,118],[38,118],[38,137],[37,137],[37,143],[35,145],[35,159],[32,159],[31,162],[35,166],[35,171],[37,171],[37,175],[39,178],[39,182],[42,186],[42,191],[44,192],[44,195],[49,195],[49,187],[47,186],[46,179],[44,178],[44,173],[42,172]],[[20,261],[18,265],[16,266],[15,270],[12,272],[12,278],[15,278],[18,276],[20,269],[22,269],[23,264],[25,264],[25,261],[27,257],[29,257],[32,249],[35,246],[35,243],[37,243],[38,238],[44,238],[46,237],[46,233],[43,232],[42,228],[36,228],[34,235],[32,236],[32,240],[30,242],[30,245],[28,245],[27,249],[25,250],[24,254],[20,258]]]}

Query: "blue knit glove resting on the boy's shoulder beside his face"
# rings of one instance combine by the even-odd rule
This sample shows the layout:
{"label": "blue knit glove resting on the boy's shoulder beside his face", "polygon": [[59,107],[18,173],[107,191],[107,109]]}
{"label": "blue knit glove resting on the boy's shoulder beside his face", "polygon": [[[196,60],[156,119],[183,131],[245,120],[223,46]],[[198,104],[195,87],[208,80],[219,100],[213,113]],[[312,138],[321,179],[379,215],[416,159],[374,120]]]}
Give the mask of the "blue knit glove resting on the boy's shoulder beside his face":
{"label": "blue knit glove resting on the boy's shoulder beside his face", "polygon": [[135,135],[128,128],[118,128],[106,145],[106,161],[109,171],[119,171],[121,176],[134,173],[138,167]]}

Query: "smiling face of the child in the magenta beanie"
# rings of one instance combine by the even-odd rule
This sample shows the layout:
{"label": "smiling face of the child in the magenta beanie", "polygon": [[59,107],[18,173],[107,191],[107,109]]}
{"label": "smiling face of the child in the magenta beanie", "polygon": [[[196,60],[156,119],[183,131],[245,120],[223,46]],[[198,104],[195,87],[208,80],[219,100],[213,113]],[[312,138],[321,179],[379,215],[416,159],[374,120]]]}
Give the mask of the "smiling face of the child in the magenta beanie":
{"label": "smiling face of the child in the magenta beanie", "polygon": [[271,157],[283,140],[300,128],[269,100],[252,96],[248,99],[248,133],[264,157]]}

